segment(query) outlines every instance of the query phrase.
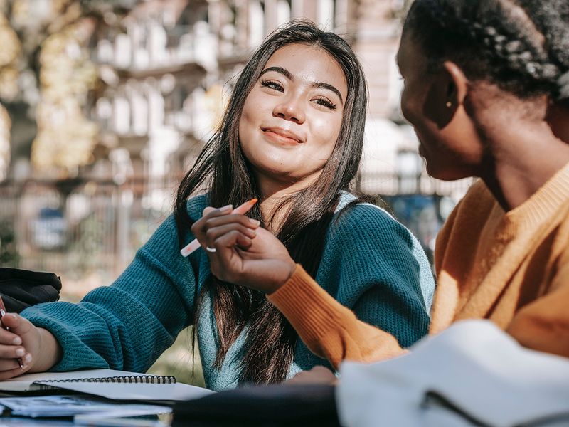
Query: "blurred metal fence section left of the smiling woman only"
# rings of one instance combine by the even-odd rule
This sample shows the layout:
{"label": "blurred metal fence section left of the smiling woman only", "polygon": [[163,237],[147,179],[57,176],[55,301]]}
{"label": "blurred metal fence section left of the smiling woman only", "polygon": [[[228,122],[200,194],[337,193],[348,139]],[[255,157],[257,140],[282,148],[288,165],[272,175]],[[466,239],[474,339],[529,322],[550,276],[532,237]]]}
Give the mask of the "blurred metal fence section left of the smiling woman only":
{"label": "blurred metal fence section left of the smiling woman only", "polygon": [[[114,278],[171,211],[175,186],[134,179],[0,184],[0,265]],[[104,280],[105,280],[104,279]]]}

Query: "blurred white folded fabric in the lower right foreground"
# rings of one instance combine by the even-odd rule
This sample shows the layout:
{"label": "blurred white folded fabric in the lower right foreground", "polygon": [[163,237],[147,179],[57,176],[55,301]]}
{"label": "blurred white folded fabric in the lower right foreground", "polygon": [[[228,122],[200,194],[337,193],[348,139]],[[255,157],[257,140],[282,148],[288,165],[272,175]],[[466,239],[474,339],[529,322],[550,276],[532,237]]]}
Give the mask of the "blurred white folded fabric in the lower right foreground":
{"label": "blurred white folded fabric in the lower right foreground", "polygon": [[457,322],[411,352],[344,362],[343,426],[569,426],[569,359],[521,347],[487,320]]}

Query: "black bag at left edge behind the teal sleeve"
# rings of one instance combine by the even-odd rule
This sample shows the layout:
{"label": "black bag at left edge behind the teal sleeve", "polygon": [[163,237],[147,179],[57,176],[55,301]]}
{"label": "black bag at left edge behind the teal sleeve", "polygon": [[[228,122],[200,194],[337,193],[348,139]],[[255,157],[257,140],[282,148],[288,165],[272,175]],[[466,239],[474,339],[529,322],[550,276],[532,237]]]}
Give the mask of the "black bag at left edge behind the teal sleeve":
{"label": "black bag at left edge behind the teal sleeve", "polygon": [[53,273],[0,267],[0,294],[7,312],[59,300],[61,280]]}

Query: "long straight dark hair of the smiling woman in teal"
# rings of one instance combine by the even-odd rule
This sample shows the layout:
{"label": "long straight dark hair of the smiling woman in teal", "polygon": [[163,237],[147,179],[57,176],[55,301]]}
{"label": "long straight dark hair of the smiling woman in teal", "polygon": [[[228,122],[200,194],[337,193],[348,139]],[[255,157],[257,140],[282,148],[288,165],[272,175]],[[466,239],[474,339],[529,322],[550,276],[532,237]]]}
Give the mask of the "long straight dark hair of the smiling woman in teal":
{"label": "long straight dark hair of the smiling woman in teal", "polygon": [[[186,203],[198,189],[209,189],[211,206],[237,206],[253,197],[259,198],[255,177],[240,149],[239,120],[245,99],[267,60],[277,49],[290,43],[315,46],[329,53],[343,70],[348,87],[339,137],[319,179],[279,205],[280,209],[286,205],[287,214],[277,230],[277,237],[292,258],[314,277],[339,194],[349,188],[358,171],[368,93],[363,70],[348,43],[334,33],[321,31],[310,21],[296,20],[277,29],[253,53],[235,84],[218,131],[181,181],[174,216],[182,246],[186,243],[182,240],[184,235],[187,236],[188,228],[197,219],[190,218]],[[262,224],[272,221],[272,218],[262,218],[258,205],[249,216]],[[223,363],[229,347],[247,325],[240,381],[254,384],[284,381],[297,342],[297,334],[285,317],[260,292],[223,283],[213,276],[207,288],[213,295],[219,334],[216,366]]]}

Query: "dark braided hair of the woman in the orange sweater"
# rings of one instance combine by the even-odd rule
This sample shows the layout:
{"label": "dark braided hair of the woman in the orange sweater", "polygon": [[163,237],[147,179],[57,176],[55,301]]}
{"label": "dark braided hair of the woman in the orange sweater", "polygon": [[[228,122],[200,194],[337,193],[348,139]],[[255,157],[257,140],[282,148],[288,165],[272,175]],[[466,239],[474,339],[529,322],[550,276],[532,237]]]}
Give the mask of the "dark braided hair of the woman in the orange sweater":
{"label": "dark braided hair of the woman in the orange sweater", "polygon": [[567,0],[415,0],[408,30],[431,72],[452,60],[471,80],[569,105]]}

